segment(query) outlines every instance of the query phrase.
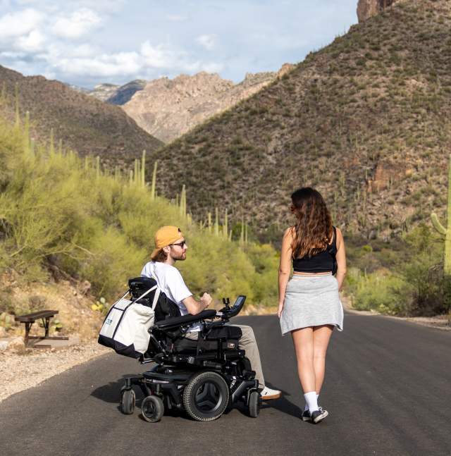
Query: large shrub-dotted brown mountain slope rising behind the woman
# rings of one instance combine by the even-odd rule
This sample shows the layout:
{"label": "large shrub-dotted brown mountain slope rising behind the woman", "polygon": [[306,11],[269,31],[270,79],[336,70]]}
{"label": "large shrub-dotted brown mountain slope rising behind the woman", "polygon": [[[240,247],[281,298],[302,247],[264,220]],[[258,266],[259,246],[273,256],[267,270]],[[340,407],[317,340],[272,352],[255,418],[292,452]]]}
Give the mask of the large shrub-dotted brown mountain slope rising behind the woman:
{"label": "large shrub-dotted brown mountain slope rising behind the woman", "polygon": [[154,154],[159,194],[185,184],[198,218],[228,208],[266,236],[289,223],[301,185],[319,189],[347,235],[399,235],[431,210],[443,220],[450,29],[447,0],[399,1],[352,26]]}

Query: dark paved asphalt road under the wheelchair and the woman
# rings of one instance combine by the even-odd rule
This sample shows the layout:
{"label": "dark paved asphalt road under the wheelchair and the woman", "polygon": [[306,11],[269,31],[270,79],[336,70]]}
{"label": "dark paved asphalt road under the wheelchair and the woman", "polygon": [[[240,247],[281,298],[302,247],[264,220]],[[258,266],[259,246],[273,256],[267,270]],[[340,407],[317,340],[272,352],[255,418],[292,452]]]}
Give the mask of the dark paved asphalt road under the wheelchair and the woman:
{"label": "dark paved asphalt road under the wheelchair and the woman", "polygon": [[292,342],[276,317],[235,322],[254,327],[266,379],[284,392],[257,419],[239,409],[208,423],[125,416],[123,377],[142,368],[111,354],[2,402],[0,455],[451,455],[451,332],[347,314],[320,398],[330,415],[313,425],[299,419]]}

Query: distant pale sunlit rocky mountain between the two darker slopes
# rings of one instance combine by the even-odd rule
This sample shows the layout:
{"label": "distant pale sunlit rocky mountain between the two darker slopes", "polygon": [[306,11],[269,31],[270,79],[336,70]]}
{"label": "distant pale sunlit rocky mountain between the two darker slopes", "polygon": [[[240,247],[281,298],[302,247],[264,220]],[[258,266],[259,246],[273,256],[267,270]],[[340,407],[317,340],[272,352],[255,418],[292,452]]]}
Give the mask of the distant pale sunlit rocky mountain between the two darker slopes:
{"label": "distant pale sunlit rocky mountain between the two darker slopes", "polygon": [[147,83],[123,106],[141,128],[163,142],[171,142],[216,113],[258,92],[292,65],[285,63],[277,73],[248,73],[234,84],[217,74],[180,75]]}

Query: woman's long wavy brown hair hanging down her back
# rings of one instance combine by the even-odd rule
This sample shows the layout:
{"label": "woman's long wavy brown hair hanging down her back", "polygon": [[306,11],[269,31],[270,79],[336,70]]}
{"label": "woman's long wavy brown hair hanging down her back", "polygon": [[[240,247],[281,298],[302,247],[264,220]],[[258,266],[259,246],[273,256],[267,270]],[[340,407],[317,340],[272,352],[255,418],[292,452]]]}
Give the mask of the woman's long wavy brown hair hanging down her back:
{"label": "woman's long wavy brown hair hanging down her back", "polygon": [[291,195],[291,201],[291,211],[296,216],[292,257],[311,257],[326,250],[332,218],[321,194],[311,187],[303,187]]}

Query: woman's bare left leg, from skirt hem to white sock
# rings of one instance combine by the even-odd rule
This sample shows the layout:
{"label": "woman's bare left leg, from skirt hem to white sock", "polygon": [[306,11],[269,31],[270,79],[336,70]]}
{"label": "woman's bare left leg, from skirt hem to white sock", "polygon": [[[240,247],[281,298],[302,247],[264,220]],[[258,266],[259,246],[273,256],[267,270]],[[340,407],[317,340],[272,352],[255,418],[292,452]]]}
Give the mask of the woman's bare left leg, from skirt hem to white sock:
{"label": "woman's bare left leg, from skirt hem to white sock", "polygon": [[291,332],[297,358],[297,374],[304,393],[315,391],[313,328]]}

